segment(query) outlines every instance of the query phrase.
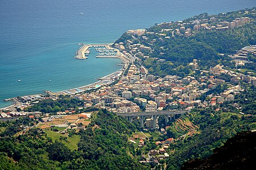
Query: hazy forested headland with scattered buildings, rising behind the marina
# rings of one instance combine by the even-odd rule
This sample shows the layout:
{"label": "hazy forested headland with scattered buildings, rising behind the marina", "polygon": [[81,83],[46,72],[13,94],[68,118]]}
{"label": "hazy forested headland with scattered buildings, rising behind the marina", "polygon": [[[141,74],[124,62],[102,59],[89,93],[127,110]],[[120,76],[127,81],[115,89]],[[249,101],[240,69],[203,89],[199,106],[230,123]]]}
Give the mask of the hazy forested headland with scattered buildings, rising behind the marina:
{"label": "hazy forested headland with scattered buildings, rising behind the marina", "polygon": [[[249,22],[224,27],[236,18],[245,17]],[[125,50],[141,58],[151,74],[184,76],[191,72],[188,63],[193,59],[200,60],[201,67],[217,64],[234,67],[228,54],[256,44],[255,19],[255,8],[218,15],[201,14],[182,22],[156,24],[139,35],[128,31],[115,43],[123,42]],[[196,22],[201,24],[197,31]],[[140,49],[138,44],[151,50]],[[165,61],[159,62],[159,59]]]}

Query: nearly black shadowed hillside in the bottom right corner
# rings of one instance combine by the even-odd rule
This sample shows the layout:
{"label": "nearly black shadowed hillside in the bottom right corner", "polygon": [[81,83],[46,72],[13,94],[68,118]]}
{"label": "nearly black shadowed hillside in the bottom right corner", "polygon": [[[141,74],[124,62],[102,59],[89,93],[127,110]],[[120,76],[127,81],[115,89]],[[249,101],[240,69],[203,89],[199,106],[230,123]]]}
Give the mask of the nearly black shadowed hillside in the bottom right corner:
{"label": "nearly black shadowed hillside in the bottom right corner", "polygon": [[209,158],[185,163],[181,169],[251,169],[255,167],[255,143],[256,132],[243,131],[216,148]]}

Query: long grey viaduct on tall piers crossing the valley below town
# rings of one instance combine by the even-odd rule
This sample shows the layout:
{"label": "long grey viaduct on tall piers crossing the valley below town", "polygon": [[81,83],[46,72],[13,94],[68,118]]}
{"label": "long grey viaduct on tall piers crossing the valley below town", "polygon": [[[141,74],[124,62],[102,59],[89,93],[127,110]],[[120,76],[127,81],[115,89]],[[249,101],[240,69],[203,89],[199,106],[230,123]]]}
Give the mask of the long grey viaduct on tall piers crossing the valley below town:
{"label": "long grey viaduct on tall piers crossing the valley below town", "polygon": [[117,115],[126,117],[130,122],[133,120],[133,117],[139,117],[141,128],[143,128],[145,118],[148,116],[152,116],[153,129],[156,129],[156,118],[158,116],[163,115],[166,122],[168,122],[169,117],[172,119],[172,117],[175,118],[176,114],[184,114],[186,112],[189,112],[189,111],[172,110],[172,111],[158,111],[158,112],[128,112],[128,113],[117,113]]}

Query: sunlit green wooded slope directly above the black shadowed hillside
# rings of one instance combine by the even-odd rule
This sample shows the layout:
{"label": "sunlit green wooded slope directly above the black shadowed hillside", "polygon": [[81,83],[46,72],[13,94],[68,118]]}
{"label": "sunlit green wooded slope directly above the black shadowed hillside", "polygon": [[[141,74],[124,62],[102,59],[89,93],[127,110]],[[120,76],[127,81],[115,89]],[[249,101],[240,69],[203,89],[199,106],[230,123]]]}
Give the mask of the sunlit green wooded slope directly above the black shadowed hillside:
{"label": "sunlit green wooded slope directly above the black shadowed hillside", "polygon": [[255,116],[216,112],[213,108],[195,109],[190,116],[193,124],[199,125],[200,133],[170,145],[172,154],[167,160],[167,169],[179,169],[189,159],[207,158],[213,154],[214,148],[222,146],[236,133],[256,129]]}

